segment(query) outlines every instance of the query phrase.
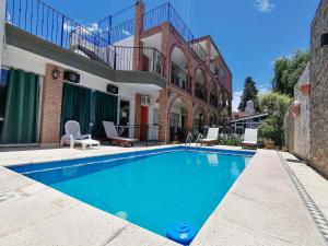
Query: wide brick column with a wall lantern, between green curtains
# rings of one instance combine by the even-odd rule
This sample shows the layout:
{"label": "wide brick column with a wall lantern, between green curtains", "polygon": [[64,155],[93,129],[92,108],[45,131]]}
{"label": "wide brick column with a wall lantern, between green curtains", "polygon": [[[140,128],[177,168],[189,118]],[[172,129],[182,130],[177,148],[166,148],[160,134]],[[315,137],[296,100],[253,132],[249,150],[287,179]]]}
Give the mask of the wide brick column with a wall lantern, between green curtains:
{"label": "wide brick column with a wall lantern, between green curtains", "polygon": [[[52,71],[57,69],[60,77],[55,80]],[[62,68],[46,65],[43,82],[39,140],[42,145],[58,145],[60,140],[60,117],[62,97]]]}

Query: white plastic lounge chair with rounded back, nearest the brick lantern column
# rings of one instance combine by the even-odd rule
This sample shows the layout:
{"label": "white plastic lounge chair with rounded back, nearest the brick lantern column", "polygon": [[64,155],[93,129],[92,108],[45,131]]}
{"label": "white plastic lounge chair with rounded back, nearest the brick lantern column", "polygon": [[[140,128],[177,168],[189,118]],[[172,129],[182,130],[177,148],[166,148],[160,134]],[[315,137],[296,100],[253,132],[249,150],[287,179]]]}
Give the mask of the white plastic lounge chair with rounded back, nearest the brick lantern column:
{"label": "white plastic lounge chair with rounded back, nearest the brick lantern column", "polygon": [[82,150],[86,147],[96,145],[99,148],[99,141],[91,138],[91,134],[81,134],[80,124],[75,120],[69,120],[65,124],[65,136],[61,137],[60,144],[70,144],[73,149],[74,144],[81,144]]}

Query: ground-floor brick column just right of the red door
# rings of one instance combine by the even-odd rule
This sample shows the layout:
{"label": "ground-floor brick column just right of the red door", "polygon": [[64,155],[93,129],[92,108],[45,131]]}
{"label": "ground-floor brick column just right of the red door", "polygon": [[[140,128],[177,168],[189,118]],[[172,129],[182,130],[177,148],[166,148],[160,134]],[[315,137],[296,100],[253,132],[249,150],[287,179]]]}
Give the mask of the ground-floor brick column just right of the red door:
{"label": "ground-floor brick column just right of the red door", "polygon": [[167,142],[168,141],[168,96],[167,90],[162,90],[160,93],[160,132],[159,132],[159,140],[160,142]]}

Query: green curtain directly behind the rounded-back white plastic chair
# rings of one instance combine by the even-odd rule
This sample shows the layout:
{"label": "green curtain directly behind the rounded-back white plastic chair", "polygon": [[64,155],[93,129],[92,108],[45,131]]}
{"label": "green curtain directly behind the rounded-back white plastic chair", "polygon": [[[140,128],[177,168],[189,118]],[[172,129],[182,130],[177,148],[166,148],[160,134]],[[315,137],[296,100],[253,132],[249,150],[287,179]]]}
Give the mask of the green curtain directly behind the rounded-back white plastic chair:
{"label": "green curtain directly behind the rounded-back white plastic chair", "polygon": [[81,133],[89,133],[90,127],[91,90],[69,83],[63,83],[61,104],[61,133],[65,133],[65,124],[77,120]]}

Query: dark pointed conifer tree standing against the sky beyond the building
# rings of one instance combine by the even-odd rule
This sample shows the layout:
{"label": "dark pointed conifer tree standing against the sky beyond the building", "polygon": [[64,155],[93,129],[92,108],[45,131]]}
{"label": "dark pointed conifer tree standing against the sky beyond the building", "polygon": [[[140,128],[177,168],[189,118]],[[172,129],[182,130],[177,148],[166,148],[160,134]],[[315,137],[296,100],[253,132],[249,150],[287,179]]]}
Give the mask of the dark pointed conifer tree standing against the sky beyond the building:
{"label": "dark pointed conifer tree standing against the sky beyond the building", "polygon": [[253,80],[251,77],[247,77],[245,80],[243,95],[241,96],[241,103],[238,106],[239,112],[244,112],[246,108],[246,103],[248,101],[254,102],[255,112],[259,110],[258,104],[258,90],[256,89],[256,82]]}

